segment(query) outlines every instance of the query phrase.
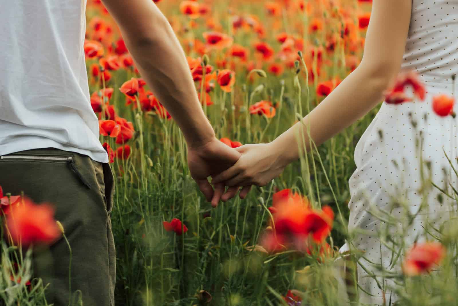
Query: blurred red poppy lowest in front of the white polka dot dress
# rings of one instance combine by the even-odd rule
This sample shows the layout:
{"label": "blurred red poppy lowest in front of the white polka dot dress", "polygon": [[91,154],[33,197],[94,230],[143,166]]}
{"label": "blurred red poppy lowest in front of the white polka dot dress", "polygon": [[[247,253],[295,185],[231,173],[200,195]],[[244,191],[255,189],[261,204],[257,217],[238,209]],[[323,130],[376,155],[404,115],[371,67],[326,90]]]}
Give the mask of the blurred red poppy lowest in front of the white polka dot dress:
{"label": "blurred red poppy lowest in front of the white polka dot dress", "polygon": [[402,268],[406,275],[428,273],[445,257],[446,249],[440,242],[415,244],[406,254]]}

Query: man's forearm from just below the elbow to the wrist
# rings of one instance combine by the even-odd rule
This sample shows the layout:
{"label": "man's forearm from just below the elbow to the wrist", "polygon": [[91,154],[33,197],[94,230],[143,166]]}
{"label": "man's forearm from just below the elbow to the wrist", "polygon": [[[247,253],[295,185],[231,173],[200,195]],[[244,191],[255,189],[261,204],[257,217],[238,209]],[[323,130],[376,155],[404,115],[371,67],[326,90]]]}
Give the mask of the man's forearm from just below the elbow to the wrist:
{"label": "man's forearm from just below the elbow to the wrist", "polygon": [[[159,30],[158,30],[159,32]],[[190,144],[214,137],[202,111],[185,54],[171,27],[156,40],[130,48],[140,74],[180,126]]]}

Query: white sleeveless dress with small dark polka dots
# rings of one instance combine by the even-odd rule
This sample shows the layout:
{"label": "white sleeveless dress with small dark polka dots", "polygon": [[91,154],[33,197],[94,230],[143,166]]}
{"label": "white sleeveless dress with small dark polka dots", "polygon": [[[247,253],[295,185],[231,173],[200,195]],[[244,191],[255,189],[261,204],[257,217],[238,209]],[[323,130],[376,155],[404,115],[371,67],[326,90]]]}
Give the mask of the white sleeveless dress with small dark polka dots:
{"label": "white sleeveless dress with small dark polka dots", "polygon": [[[419,73],[427,86],[425,101],[382,104],[356,145],[354,159],[357,168],[349,179],[349,231],[355,235],[352,244],[364,250],[367,259],[382,264],[384,268],[390,265],[392,251],[380,242],[377,231],[383,224],[368,213],[368,209],[374,206],[390,212],[395,199],[405,200],[412,213],[419,209],[422,199],[419,192],[420,148],[416,149],[416,137],[423,137],[421,152],[425,162],[431,163],[432,182],[441,188],[446,188],[448,182],[455,188],[458,185],[458,178],[443,152],[447,153],[454,166],[458,166],[458,116],[439,117],[432,110],[433,96],[439,93],[453,95],[452,75],[458,73],[458,0],[413,0],[402,68]],[[425,165],[423,169],[428,175]],[[453,195],[450,187],[447,190]],[[442,204],[437,200],[439,193],[436,188],[428,191],[429,208],[415,219],[409,232],[399,233],[390,229],[393,230],[390,233],[402,235],[406,245],[412,245],[418,233],[424,232],[425,215],[441,220],[443,213],[453,209],[453,202],[447,197],[443,197]],[[395,208],[390,213],[401,216],[401,212],[401,208]],[[359,230],[365,230],[369,235],[359,233]],[[418,239],[421,241],[423,238],[420,235]],[[348,249],[347,242],[340,251]],[[361,259],[360,263],[369,271],[379,273],[366,260]],[[399,269],[399,265],[393,269]],[[358,268],[358,278],[362,289],[375,295],[360,290],[360,301],[383,305],[383,286],[393,285],[393,282],[378,278],[379,284],[382,284],[380,289],[361,267]],[[385,290],[388,305],[391,291],[387,287]],[[392,295],[392,301],[395,300],[396,296]]]}

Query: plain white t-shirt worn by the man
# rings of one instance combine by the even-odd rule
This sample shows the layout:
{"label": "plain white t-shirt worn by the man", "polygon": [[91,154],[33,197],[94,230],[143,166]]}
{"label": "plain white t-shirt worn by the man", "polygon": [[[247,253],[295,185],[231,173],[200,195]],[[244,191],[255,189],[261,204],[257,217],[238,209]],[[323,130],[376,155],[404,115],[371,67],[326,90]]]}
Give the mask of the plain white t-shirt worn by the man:
{"label": "plain white t-shirt worn by the man", "polygon": [[58,148],[107,163],[90,104],[86,0],[0,2],[0,156]]}

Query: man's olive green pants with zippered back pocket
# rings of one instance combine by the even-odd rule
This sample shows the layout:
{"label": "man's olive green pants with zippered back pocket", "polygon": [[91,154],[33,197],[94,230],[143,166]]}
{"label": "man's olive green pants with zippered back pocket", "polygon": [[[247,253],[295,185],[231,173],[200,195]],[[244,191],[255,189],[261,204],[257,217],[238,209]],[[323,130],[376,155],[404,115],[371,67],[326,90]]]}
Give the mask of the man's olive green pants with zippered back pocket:
{"label": "man's olive green pants with zippered back pocket", "polygon": [[[72,250],[71,291],[84,306],[114,305],[115,254],[110,212],[113,175],[109,164],[55,148],[0,157],[0,186],[35,202],[50,202]],[[50,284],[48,303],[69,303],[70,251],[62,238],[33,255],[34,277]]]}

